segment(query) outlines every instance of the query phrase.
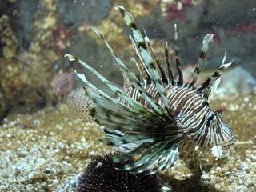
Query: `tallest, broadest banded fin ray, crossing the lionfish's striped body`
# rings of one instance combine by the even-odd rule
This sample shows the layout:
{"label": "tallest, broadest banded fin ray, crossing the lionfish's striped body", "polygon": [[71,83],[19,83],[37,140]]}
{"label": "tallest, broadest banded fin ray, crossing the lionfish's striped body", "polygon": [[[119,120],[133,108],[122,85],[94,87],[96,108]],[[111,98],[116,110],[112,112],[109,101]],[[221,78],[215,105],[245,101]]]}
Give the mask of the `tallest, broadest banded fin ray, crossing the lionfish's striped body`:
{"label": "tallest, broadest banded fin ray, crossing the lionfish's striped body", "polygon": [[170,104],[166,97],[162,78],[160,78],[158,74],[156,65],[154,64],[150,51],[147,49],[146,42],[144,38],[142,38],[140,30],[138,30],[138,26],[136,25],[134,18],[129,12],[126,11],[123,6],[116,6],[116,9],[120,11],[120,13],[122,14],[122,18],[126,22],[126,25],[130,27],[131,37],[134,39],[134,42],[136,42],[136,45],[138,46],[143,62],[145,62],[145,67],[149,72],[150,79],[154,82],[156,89],[158,90],[158,94],[160,95],[168,114],[170,114],[170,116],[174,118],[174,113],[171,110]]}

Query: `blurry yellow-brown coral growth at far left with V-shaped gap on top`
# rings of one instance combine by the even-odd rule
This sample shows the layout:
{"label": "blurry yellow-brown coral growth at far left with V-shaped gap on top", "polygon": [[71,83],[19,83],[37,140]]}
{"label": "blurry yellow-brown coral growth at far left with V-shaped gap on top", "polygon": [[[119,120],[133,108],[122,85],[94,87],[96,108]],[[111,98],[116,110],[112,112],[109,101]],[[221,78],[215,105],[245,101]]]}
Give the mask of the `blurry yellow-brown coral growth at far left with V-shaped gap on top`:
{"label": "blurry yellow-brown coral growth at far left with V-shaped gap on top", "polygon": [[58,15],[52,0],[40,0],[38,5],[33,15],[30,46],[26,51],[16,53],[18,44],[9,19],[2,16],[0,20],[4,56],[1,62],[5,63],[0,71],[2,93],[10,108],[18,112],[37,110],[53,98],[50,80],[54,77],[53,63],[58,54],[52,36]]}

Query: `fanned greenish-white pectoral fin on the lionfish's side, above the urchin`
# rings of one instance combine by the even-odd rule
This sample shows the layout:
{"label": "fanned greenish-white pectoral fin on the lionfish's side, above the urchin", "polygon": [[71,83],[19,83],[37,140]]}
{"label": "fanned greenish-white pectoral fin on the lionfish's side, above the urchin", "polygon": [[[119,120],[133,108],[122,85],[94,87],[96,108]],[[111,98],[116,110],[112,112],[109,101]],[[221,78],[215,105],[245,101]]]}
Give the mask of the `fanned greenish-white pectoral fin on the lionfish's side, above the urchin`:
{"label": "fanned greenish-white pectoral fin on the lionfish's side, above the urchin", "polygon": [[[71,59],[73,58],[82,63],[78,58],[71,57]],[[86,66],[85,63],[83,65]],[[89,68],[89,66],[86,66],[86,68]],[[113,90],[117,89],[94,70],[90,70]],[[125,152],[126,148],[130,149],[128,154],[114,158],[114,162],[128,161],[142,155],[146,161],[135,161],[134,165],[131,165],[132,171],[152,174],[164,169],[166,166],[173,165],[177,161],[178,149],[176,148],[178,146],[176,145],[182,139],[182,133],[178,131],[178,128],[175,126],[176,123],[170,116],[165,114],[156,115],[153,110],[149,110],[145,106],[136,103],[128,95],[122,94],[121,90],[116,90],[118,95],[129,102],[133,108],[125,106],[121,102],[110,98],[102,90],[98,90],[98,88],[86,80],[85,74],[78,74],[76,71],[75,73],[86,83],[86,86],[90,86],[91,89],[97,92],[97,94],[90,93],[89,91],[86,92],[94,103],[97,104],[94,107],[96,122],[101,126],[113,129],[105,129],[107,137],[102,138],[101,141],[107,145],[115,146],[122,152]],[[170,136],[168,140],[162,142],[162,136],[158,138],[156,134],[161,132],[164,126],[170,125],[170,123],[172,127],[168,129],[173,129],[170,132],[172,135],[175,133],[175,136]],[[168,135],[166,136],[168,137]],[[124,169],[130,170],[129,164]]]}

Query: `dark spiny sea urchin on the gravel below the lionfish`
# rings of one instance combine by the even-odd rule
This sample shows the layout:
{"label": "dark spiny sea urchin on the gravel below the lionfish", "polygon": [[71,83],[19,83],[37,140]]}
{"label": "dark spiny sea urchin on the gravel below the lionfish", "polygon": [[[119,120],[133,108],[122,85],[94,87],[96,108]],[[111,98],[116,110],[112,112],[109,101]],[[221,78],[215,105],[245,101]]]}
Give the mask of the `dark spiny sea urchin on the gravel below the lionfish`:
{"label": "dark spiny sea urchin on the gravel below the lionfish", "polygon": [[116,170],[111,157],[113,154],[98,156],[90,162],[79,179],[77,192],[98,191],[158,191],[160,183],[155,175],[130,174],[125,170]]}

